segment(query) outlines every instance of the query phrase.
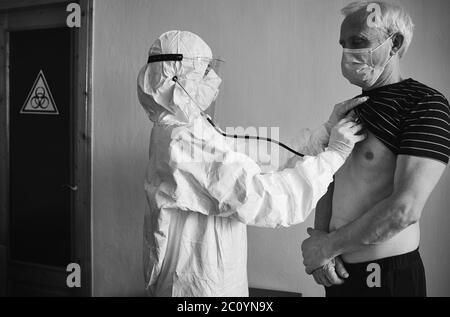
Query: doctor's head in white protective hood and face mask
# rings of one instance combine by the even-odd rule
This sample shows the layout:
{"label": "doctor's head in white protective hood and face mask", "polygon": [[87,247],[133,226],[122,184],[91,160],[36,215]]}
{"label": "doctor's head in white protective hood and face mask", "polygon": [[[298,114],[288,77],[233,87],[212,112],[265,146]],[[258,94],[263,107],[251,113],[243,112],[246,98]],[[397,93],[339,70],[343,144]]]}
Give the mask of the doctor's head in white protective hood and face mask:
{"label": "doctor's head in white protective hood and face mask", "polygon": [[149,56],[162,54],[182,54],[183,60],[143,66],[137,83],[139,101],[153,122],[192,123],[215,100],[222,82],[214,70],[209,69],[211,49],[194,33],[169,31],[161,35],[149,51]]}

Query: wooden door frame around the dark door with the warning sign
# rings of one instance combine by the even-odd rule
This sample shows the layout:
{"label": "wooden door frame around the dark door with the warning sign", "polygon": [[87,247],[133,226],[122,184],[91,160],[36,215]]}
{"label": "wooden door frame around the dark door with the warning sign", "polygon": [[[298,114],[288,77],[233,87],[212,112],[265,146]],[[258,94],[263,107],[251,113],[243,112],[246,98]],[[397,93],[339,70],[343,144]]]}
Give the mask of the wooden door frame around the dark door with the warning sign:
{"label": "wooden door frame around the dark door with the warning sign", "polygon": [[[0,296],[7,295],[9,246],[9,65],[7,32],[22,25],[20,21],[8,19],[9,13],[23,14],[27,28],[51,27],[45,19],[45,12],[65,7],[68,3],[79,3],[81,27],[74,30],[74,69],[72,92],[74,116],[73,146],[73,195],[72,213],[72,259],[81,267],[82,287],[74,293],[78,296],[92,295],[91,263],[91,211],[92,211],[92,32],[93,0],[7,0],[0,3]],[[27,18],[43,9],[38,18]],[[68,13],[67,13],[68,14]],[[17,23],[17,25],[15,25]],[[61,24],[59,24],[61,25]],[[20,28],[20,27],[19,27]],[[24,29],[23,27],[21,29]],[[25,28],[26,29],[26,28]],[[68,263],[69,264],[69,263]]]}

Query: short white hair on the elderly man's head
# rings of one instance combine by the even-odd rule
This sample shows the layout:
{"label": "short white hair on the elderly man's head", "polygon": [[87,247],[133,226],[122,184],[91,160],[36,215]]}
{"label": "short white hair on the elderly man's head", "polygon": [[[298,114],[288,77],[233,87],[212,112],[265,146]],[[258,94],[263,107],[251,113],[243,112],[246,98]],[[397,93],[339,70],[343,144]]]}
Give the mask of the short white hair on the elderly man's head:
{"label": "short white hair on the elderly man's head", "polygon": [[[378,4],[381,8],[380,27],[388,34],[400,33],[403,35],[403,46],[400,49],[399,56],[402,57],[409,48],[414,35],[414,24],[411,16],[402,7],[386,3],[383,1],[358,1],[352,2],[342,9],[342,14],[348,17],[361,10],[366,11],[370,4]],[[369,14],[369,12],[367,13]]]}

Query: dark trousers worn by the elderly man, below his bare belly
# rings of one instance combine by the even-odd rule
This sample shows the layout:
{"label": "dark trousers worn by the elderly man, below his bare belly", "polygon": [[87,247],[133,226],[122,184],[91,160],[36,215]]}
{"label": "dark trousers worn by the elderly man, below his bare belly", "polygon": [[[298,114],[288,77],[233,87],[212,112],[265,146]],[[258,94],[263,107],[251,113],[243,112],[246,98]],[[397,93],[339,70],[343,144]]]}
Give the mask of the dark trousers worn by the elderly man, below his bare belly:
{"label": "dark trousers worn by the elderly man, below his bare belly", "polygon": [[344,263],[342,285],[326,287],[326,297],[426,297],[425,269],[419,250],[365,263]]}

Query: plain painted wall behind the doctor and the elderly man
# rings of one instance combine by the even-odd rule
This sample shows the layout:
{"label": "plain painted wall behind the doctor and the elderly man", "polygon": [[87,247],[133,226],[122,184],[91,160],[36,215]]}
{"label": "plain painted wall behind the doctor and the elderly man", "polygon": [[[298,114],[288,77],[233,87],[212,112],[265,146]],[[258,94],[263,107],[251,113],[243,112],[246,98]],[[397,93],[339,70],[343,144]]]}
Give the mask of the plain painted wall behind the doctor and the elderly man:
{"label": "plain painted wall behind the doctor and the elderly man", "polygon": [[[95,0],[93,291],[143,295],[144,172],[151,123],[136,97],[136,76],[164,31],[190,30],[227,63],[216,110],[221,126],[281,127],[281,139],[326,120],[332,105],[358,93],[340,74],[339,10],[330,0]],[[450,2],[397,1],[416,37],[403,68],[450,97]],[[237,115],[238,114],[238,115]],[[422,252],[430,295],[450,295],[450,174],[424,211]],[[306,224],[249,230],[253,287],[321,296],[304,273]]]}

